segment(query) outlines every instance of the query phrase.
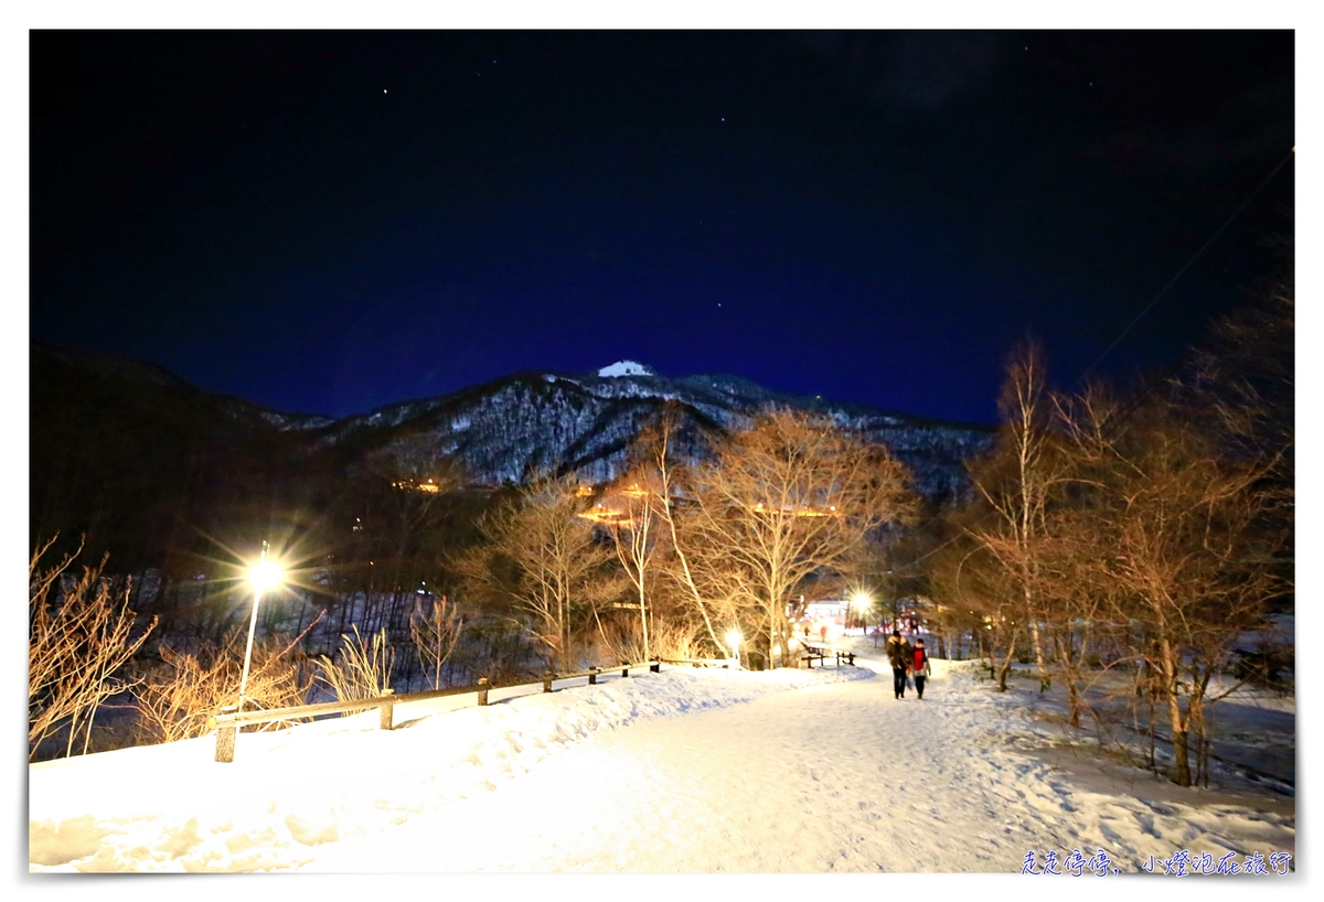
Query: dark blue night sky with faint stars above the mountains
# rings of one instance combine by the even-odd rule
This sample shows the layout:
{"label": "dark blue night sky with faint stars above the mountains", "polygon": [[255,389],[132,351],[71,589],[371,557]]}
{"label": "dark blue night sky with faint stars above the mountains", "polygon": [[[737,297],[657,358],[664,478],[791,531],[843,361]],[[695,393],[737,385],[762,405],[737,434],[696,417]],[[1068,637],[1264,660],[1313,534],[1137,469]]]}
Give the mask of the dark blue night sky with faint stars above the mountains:
{"label": "dark blue night sky with faint stars above the mountains", "polygon": [[[1294,140],[1291,32],[33,32],[30,331],[285,411],[630,358],[993,422]],[[1294,167],[1103,374],[1249,300]]]}

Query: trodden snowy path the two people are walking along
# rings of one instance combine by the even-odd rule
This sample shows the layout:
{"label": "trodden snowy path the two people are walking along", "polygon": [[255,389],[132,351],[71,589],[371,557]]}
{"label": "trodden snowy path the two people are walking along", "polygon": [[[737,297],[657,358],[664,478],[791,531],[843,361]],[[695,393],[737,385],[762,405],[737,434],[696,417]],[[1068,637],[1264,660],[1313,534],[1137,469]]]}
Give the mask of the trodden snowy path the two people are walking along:
{"label": "trodden snowy path the two people are walking along", "polygon": [[418,824],[404,858],[436,870],[1018,869],[1043,831],[1008,808],[1025,795],[1008,783],[1033,767],[1004,772],[964,747],[968,712],[940,694],[898,702],[888,675],[594,735]]}

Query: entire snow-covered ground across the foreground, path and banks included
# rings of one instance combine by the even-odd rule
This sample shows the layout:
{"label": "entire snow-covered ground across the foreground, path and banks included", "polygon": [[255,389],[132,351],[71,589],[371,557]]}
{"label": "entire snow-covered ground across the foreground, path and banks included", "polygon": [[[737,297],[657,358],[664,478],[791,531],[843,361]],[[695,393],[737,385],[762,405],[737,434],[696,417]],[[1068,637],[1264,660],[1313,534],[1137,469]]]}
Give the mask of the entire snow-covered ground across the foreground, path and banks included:
{"label": "entire snow-covered ground across the foreground, path and banks included", "polygon": [[[1054,766],[970,665],[667,669],[28,770],[30,872],[1002,872],[1295,856],[1295,801]],[[879,671],[875,673],[875,669]],[[449,709],[449,710],[448,710]],[[1148,780],[1148,782],[1147,782]],[[1276,880],[1276,878],[1274,878]]]}

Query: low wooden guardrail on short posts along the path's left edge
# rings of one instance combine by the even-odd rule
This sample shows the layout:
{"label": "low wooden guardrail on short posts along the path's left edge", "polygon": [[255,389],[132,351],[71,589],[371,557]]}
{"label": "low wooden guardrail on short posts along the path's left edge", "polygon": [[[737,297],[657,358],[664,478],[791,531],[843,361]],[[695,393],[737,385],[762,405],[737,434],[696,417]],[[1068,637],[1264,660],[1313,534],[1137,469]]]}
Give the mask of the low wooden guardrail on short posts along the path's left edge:
{"label": "low wooden guardrail on short posts along the path's left edge", "polygon": [[[685,660],[669,660],[667,664],[704,664],[707,661],[685,661]],[[216,727],[216,760],[218,762],[232,762],[234,760],[234,737],[240,727],[245,723],[279,723],[282,721],[302,721],[311,717],[320,717],[323,714],[348,714],[350,712],[363,712],[371,710],[373,708],[380,713],[380,729],[391,730],[395,727],[395,708],[400,702],[409,701],[428,701],[429,698],[444,698],[446,696],[463,696],[467,693],[478,694],[478,704],[486,705],[487,696],[493,689],[516,689],[522,686],[536,686],[542,685],[543,692],[552,692],[552,684],[557,680],[577,680],[581,677],[588,677],[589,685],[597,682],[597,677],[602,673],[621,672],[621,677],[629,677],[630,671],[637,671],[639,668],[649,668],[650,673],[659,673],[662,671],[662,659],[654,659],[651,661],[641,661],[636,664],[620,664],[617,667],[600,668],[593,667],[587,671],[579,671],[575,673],[543,673],[540,680],[508,680],[503,682],[491,682],[487,677],[482,677],[474,685],[469,686],[448,686],[446,689],[430,689],[428,692],[409,692],[402,696],[395,694],[391,689],[387,689],[383,694],[375,698],[360,698],[356,701],[328,701],[316,705],[295,705],[291,708],[271,708],[267,710],[253,710],[253,712],[238,712],[233,705],[220,709],[212,718],[212,723]]]}

